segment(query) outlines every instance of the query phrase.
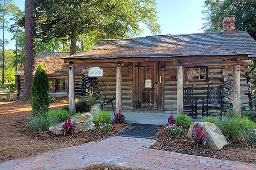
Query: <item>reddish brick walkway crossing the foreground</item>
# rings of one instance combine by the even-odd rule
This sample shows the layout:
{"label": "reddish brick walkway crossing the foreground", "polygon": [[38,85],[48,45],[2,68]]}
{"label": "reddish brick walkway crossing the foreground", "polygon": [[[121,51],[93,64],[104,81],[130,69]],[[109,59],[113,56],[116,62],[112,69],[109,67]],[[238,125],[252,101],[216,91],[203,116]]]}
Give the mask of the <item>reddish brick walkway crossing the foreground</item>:
{"label": "reddish brick walkway crossing the foreground", "polygon": [[0,170],[79,169],[102,163],[148,170],[256,170],[256,164],[252,163],[148,149],[153,142],[152,139],[115,136],[28,159],[3,162]]}

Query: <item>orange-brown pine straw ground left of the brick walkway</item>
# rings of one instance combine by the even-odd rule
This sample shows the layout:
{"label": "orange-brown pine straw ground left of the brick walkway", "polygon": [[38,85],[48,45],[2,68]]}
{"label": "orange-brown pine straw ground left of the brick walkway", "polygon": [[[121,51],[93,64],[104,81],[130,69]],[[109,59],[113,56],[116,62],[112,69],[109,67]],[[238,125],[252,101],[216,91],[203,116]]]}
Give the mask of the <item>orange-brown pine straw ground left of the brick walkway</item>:
{"label": "orange-brown pine straw ground left of the brick walkway", "polygon": [[[51,110],[66,104],[52,103]],[[12,102],[0,102],[0,162],[35,156],[52,150],[99,141],[114,136],[127,124],[115,124],[111,131],[95,130],[76,133],[75,136],[57,136],[52,133],[33,134],[26,126],[26,119],[31,116],[30,102],[15,99]]]}

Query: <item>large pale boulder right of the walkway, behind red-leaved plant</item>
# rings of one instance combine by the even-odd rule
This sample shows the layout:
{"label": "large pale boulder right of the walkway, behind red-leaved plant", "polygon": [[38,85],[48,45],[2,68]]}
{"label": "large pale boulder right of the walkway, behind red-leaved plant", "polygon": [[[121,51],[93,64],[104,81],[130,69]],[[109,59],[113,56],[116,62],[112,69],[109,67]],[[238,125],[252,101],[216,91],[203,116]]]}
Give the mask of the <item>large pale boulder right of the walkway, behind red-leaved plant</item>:
{"label": "large pale boulder right of the walkway, behind red-leaved plant", "polygon": [[192,131],[195,125],[199,125],[202,128],[202,132],[208,135],[208,146],[214,150],[221,150],[225,145],[227,145],[227,139],[222,134],[221,130],[209,122],[192,122],[189,127],[189,132],[187,136],[192,138]]}

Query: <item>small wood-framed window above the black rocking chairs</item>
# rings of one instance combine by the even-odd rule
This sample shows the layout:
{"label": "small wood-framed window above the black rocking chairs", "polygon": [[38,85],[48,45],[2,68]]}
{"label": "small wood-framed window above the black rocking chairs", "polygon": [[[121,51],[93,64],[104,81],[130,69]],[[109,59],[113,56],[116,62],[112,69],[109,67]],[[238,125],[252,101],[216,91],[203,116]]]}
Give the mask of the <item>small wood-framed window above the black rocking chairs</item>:
{"label": "small wood-framed window above the black rocking chairs", "polygon": [[186,80],[207,80],[207,67],[186,68]]}

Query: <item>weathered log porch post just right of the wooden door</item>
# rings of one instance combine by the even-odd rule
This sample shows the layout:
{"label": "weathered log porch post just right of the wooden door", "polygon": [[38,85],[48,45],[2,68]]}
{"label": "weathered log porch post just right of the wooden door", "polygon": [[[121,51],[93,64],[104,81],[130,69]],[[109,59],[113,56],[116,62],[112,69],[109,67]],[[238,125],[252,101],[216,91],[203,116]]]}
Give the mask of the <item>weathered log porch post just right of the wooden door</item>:
{"label": "weathered log porch post just right of the wooden door", "polygon": [[183,66],[177,66],[177,115],[183,114]]}

